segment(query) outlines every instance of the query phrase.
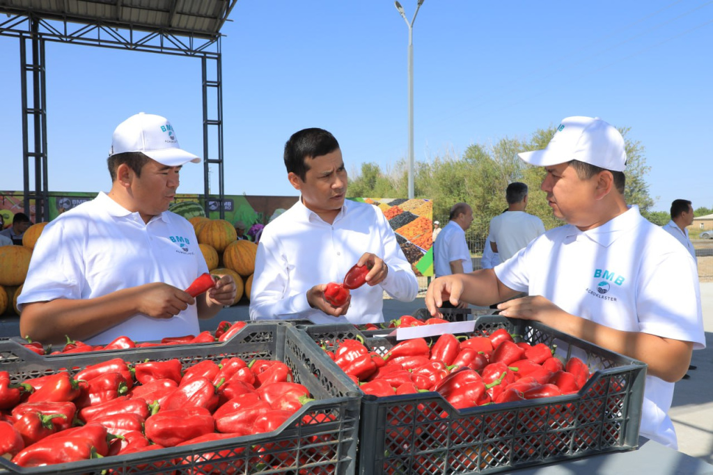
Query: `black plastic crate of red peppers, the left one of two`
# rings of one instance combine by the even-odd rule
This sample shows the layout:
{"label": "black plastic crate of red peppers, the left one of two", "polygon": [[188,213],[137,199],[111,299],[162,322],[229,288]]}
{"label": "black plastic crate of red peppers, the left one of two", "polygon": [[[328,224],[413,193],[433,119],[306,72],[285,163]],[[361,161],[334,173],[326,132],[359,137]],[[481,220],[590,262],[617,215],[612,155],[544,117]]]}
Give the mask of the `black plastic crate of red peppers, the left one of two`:
{"label": "black plastic crate of red peppers, the left one of two", "polygon": [[[116,357],[116,354],[110,356]],[[304,384],[315,400],[293,414],[282,429],[265,434],[29,469],[0,458],[0,471],[96,475],[355,473],[361,394],[345,386],[323,350],[292,325],[255,323],[220,344],[148,347],[123,352],[122,357],[133,363],[178,358],[184,368],[203,359],[279,359],[292,369],[294,381]],[[48,358],[39,363],[6,364],[2,369],[19,382],[66,367],[71,367],[70,372],[76,374],[89,364],[106,359],[102,354],[79,353],[73,355],[71,366],[67,359]],[[326,421],[322,414],[327,415]],[[227,453],[221,454],[220,459],[210,460],[202,455],[216,451]]]}

